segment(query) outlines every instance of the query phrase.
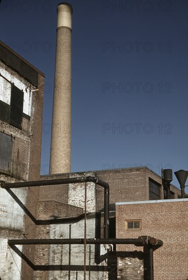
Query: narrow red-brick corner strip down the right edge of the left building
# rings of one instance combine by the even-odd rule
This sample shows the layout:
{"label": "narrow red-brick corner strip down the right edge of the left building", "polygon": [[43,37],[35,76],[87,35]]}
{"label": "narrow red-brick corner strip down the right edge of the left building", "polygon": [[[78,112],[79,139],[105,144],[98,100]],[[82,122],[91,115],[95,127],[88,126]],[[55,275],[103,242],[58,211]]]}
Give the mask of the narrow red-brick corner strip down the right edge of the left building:
{"label": "narrow red-brick corner strip down the right edge of the left building", "polygon": [[[28,181],[40,180],[41,165],[41,143],[42,143],[42,117],[43,117],[43,95],[44,95],[44,76],[38,74],[38,89],[32,98],[32,114],[30,118],[30,146],[29,146],[29,172]],[[37,218],[37,203],[39,201],[40,187],[28,188],[26,206],[29,211]],[[37,227],[34,222],[25,215],[25,233],[28,239],[37,238]],[[29,259],[35,263],[36,246],[24,246],[25,251],[32,251]],[[25,279],[33,280],[34,271],[24,261],[22,265]]]}

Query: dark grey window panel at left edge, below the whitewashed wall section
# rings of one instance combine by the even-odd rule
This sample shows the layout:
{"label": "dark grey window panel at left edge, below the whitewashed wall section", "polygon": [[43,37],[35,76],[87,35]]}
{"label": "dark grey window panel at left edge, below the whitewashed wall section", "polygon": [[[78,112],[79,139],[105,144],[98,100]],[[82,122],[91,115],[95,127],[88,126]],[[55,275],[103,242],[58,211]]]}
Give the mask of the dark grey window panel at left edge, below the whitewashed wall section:
{"label": "dark grey window panel at left edge, below the whitewashed wall section", "polygon": [[12,137],[0,132],[0,171],[11,174]]}

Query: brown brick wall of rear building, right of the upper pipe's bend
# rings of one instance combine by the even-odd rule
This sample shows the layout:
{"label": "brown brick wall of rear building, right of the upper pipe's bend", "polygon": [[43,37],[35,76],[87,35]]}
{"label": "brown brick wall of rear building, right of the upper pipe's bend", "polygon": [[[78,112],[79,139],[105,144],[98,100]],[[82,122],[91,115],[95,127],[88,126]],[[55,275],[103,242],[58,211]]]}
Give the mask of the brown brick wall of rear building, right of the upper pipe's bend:
{"label": "brown brick wall of rear building, right of the upper pipe's bend", "polygon": [[[161,183],[160,177],[146,167],[96,172],[96,176],[110,186],[110,203],[149,200],[148,175]],[[97,209],[104,205],[103,192],[102,188],[97,188]]]}

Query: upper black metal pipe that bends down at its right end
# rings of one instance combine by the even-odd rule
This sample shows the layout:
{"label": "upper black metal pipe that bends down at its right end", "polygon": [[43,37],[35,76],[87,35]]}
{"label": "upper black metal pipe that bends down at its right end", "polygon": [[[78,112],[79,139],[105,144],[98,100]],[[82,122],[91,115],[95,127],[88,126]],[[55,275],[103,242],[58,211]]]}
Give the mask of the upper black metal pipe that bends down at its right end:
{"label": "upper black metal pipe that bends down at its right end", "polygon": [[10,188],[23,188],[23,187],[36,187],[36,186],[49,186],[49,185],[64,185],[75,184],[83,182],[93,182],[101,187],[104,187],[104,238],[109,238],[109,185],[93,176],[76,177],[76,178],[61,178],[41,181],[29,181],[19,183],[5,183],[1,182],[1,187],[5,189]]}

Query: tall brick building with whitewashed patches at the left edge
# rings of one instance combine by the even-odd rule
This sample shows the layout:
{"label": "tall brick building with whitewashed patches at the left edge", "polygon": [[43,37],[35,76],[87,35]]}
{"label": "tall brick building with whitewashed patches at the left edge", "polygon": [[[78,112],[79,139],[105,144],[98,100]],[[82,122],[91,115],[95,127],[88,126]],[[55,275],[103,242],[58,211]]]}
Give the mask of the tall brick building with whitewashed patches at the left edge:
{"label": "tall brick building with whitewashed patches at the left edge", "polygon": [[[44,74],[3,42],[0,59],[0,180],[40,180]],[[0,194],[1,278],[17,280],[21,259],[11,255],[7,240],[24,238],[27,228],[35,237],[36,229],[5,189]],[[15,194],[35,215],[38,189],[17,189]]]}

